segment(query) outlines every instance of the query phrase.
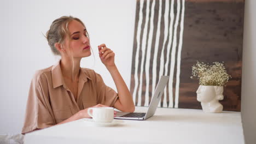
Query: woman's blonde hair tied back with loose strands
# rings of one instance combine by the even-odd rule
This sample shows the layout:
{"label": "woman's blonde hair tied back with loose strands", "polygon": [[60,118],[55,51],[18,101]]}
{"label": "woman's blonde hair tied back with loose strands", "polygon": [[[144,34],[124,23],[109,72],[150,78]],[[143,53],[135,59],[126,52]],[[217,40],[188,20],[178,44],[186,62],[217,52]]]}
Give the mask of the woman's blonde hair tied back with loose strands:
{"label": "woman's blonde hair tied back with loose strands", "polygon": [[68,24],[73,20],[80,22],[85,27],[84,23],[77,17],[62,16],[54,20],[49,31],[46,32],[45,38],[48,40],[48,45],[51,47],[54,55],[60,55],[60,52],[55,47],[55,43],[63,44],[66,38],[70,39]]}

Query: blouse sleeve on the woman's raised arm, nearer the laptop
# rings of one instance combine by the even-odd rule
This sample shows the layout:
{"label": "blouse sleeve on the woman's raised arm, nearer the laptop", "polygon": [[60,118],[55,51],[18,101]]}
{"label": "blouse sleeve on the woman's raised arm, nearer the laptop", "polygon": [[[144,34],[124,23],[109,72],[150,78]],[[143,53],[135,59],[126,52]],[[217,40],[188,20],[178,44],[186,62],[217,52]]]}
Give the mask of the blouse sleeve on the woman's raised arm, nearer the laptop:
{"label": "blouse sleeve on the woman's raised arm, nearer the laptop", "polygon": [[118,100],[118,94],[114,89],[105,85],[101,75],[96,73],[97,103],[113,107]]}

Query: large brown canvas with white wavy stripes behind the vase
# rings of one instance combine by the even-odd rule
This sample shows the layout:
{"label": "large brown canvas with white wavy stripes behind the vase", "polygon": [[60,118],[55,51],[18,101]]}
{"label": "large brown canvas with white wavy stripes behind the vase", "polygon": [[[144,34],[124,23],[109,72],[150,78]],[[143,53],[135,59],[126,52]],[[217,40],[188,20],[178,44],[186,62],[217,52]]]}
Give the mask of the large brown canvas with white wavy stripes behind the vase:
{"label": "large brown canvas with white wavy stripes behind the vase", "polygon": [[149,106],[161,75],[170,79],[159,107],[201,109],[191,66],[224,62],[232,79],[224,110],[240,111],[243,0],[137,0],[131,94]]}

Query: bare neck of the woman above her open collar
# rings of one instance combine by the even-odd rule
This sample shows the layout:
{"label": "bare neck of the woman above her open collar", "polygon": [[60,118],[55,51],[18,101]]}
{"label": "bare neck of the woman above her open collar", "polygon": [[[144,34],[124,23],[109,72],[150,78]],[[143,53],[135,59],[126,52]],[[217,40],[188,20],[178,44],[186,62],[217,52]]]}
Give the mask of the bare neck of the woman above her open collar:
{"label": "bare neck of the woman above her open collar", "polygon": [[60,66],[63,77],[71,81],[76,81],[79,79],[81,58],[61,58]]}

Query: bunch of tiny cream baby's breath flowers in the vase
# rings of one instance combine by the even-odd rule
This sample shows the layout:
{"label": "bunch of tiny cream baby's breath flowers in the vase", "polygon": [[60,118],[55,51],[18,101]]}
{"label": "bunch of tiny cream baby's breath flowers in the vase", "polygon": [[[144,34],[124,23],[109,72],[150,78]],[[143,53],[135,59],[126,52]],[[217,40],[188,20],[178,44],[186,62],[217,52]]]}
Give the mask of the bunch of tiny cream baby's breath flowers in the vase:
{"label": "bunch of tiny cream baby's breath flowers in the vase", "polygon": [[196,65],[192,66],[192,76],[190,78],[195,77],[199,79],[199,85],[203,86],[225,86],[231,78],[226,73],[224,62],[213,62],[213,65],[209,65],[198,61]]}

